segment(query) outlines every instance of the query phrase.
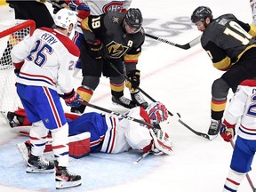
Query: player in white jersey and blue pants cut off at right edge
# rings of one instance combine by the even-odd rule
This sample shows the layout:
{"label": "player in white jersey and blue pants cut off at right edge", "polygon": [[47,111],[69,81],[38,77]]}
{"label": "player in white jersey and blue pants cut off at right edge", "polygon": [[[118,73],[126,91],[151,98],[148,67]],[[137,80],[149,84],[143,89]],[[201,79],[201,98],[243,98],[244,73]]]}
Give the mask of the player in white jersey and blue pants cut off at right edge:
{"label": "player in white jersey and blue pants cut off at right edge", "polygon": [[228,108],[225,111],[220,135],[225,141],[234,139],[238,126],[230,171],[223,191],[236,191],[251,170],[256,151],[256,80],[244,80],[239,84]]}

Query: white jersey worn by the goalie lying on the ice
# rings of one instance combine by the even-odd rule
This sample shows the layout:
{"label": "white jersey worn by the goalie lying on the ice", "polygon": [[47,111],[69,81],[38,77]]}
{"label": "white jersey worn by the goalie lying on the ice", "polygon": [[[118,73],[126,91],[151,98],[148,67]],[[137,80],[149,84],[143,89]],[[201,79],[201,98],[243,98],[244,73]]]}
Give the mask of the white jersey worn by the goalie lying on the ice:
{"label": "white jersey worn by the goalie lying on the ice", "polygon": [[[148,121],[148,115],[143,108],[132,108],[127,116]],[[143,117],[142,117],[143,116]],[[101,152],[121,153],[129,148],[143,150],[152,144],[152,137],[148,127],[128,120],[106,116],[108,131],[102,144]]]}

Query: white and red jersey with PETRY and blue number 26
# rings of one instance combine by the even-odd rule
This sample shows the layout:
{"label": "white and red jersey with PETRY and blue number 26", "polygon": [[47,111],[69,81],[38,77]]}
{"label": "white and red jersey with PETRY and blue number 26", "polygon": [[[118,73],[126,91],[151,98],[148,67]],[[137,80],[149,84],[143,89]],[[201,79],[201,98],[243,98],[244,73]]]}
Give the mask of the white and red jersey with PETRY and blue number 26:
{"label": "white and red jersey with PETRY and blue number 26", "polygon": [[12,49],[12,61],[25,60],[17,83],[45,86],[61,92],[73,89],[73,70],[80,51],[76,44],[52,28],[37,28]]}

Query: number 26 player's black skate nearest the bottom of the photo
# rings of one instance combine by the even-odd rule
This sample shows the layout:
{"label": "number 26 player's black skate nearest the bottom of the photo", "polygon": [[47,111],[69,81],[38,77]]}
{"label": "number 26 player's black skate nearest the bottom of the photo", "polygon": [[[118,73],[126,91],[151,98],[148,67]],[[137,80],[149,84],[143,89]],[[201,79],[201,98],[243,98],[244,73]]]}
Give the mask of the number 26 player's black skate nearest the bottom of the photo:
{"label": "number 26 player's black skate nearest the bottom of the photo", "polygon": [[82,184],[81,176],[75,173],[69,172],[67,167],[58,166],[58,162],[54,161],[55,164],[55,180],[56,188],[73,188]]}

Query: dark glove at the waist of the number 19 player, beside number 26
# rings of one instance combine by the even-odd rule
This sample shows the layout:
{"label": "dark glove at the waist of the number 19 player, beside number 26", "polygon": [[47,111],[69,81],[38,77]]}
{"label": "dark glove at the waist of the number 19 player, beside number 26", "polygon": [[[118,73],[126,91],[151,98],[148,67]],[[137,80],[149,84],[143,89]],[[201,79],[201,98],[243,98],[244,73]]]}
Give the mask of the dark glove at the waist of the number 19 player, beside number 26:
{"label": "dark glove at the waist of the number 19 player, beside number 26", "polygon": [[87,41],[88,53],[89,55],[95,59],[100,60],[103,56],[103,44],[99,39],[96,40],[95,43]]}

